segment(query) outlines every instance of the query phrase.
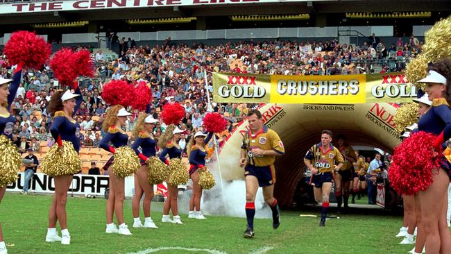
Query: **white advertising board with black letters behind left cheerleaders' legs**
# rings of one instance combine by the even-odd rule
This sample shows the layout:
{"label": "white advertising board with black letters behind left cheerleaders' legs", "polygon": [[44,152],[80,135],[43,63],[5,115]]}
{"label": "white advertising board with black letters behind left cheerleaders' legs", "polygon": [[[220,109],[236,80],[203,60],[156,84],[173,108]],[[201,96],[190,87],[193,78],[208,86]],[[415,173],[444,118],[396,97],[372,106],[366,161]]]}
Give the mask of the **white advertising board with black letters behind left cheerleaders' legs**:
{"label": "white advertising board with black letters behind left cheerleaders' legs", "polygon": [[[110,183],[110,176],[96,176],[96,175],[74,175],[72,183],[69,187],[69,194],[74,195],[93,195],[103,196],[105,195],[105,188]],[[53,194],[55,192],[55,181],[53,177],[47,176],[44,173],[35,173],[33,178],[30,179],[28,192],[39,194]],[[184,186],[182,186],[184,187]],[[15,183],[8,185],[6,191],[8,192],[21,192],[24,189],[24,172],[18,174],[18,178]],[[133,197],[135,194],[135,178],[128,176],[125,178],[125,196],[128,198]],[[162,194],[164,198],[167,197],[167,185],[161,183],[159,185],[153,185],[153,193]]]}

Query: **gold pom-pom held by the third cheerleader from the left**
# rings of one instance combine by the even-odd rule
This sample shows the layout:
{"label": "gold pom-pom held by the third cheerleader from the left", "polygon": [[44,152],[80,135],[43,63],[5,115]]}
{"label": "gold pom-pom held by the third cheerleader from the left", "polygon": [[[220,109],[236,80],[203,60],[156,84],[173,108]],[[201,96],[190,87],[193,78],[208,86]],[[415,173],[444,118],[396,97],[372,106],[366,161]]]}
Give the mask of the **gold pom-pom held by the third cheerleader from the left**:
{"label": "gold pom-pom held by the third cheerleader from the left", "polygon": [[128,146],[121,146],[114,153],[112,171],[117,178],[131,176],[139,169],[139,158],[135,151]]}

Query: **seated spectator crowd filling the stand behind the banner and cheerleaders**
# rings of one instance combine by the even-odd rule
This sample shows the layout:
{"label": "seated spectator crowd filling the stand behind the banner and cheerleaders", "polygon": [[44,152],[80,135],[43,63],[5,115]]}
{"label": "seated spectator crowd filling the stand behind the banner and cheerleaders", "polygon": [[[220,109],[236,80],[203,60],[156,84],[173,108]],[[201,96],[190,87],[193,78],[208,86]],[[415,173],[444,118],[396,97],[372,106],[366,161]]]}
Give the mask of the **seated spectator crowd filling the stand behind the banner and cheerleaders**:
{"label": "seated spectator crowd filling the stand behind the banner and cheerleaders", "polygon": [[[130,45],[130,47],[128,47]],[[156,46],[126,44],[118,59],[107,61],[102,51],[93,52],[96,78],[79,81],[83,103],[76,112],[80,123],[80,140],[83,146],[98,146],[103,135],[101,124],[108,105],[101,98],[102,85],[109,79],[122,79],[130,84],[145,81],[151,86],[154,103],[152,114],[159,118],[166,101],[178,101],[186,109],[181,128],[192,133],[202,127],[202,119],[208,110],[220,112],[228,119],[228,132],[244,119],[249,108],[257,105],[245,103],[210,103],[212,98],[212,72],[237,72],[249,74],[329,75],[368,74],[374,72],[369,60],[402,58],[409,60],[421,51],[422,42],[412,35],[409,42],[400,38],[396,45],[387,47],[377,37],[370,37],[360,46],[339,44],[336,40],[293,42],[274,40],[253,42],[240,41],[219,46],[175,44],[171,38]],[[81,46],[78,46],[81,49]],[[91,49],[92,48],[88,48]],[[9,78],[13,67],[0,57],[0,75]],[[387,65],[382,71],[401,71],[405,65]],[[206,78],[205,78],[206,73]],[[205,80],[210,86],[207,88]],[[50,97],[58,89],[53,73],[46,66],[41,71],[24,70],[22,84],[17,90],[12,112],[17,121],[12,126],[15,144],[20,151],[28,147],[39,152],[40,142],[53,144],[49,135],[51,118],[46,111]],[[214,98],[212,98],[214,101]],[[128,119],[126,131],[133,130],[139,112]],[[158,123],[155,137],[161,135],[164,124]],[[222,133],[220,139],[228,133]],[[189,139],[185,137],[184,139]],[[183,139],[182,139],[183,140]],[[187,140],[185,140],[187,142]],[[182,142],[185,142],[182,141]],[[133,139],[130,139],[133,142]]]}

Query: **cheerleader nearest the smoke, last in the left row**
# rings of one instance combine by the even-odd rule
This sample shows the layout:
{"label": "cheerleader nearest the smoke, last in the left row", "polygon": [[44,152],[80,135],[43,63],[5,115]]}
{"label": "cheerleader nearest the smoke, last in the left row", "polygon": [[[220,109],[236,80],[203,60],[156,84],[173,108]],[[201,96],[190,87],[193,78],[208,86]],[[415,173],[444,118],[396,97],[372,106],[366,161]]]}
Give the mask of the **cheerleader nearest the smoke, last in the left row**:
{"label": "cheerleader nearest the smoke, last in the left row", "polygon": [[[189,200],[189,214],[188,218],[192,219],[207,219],[201,212],[201,198],[202,187],[199,185],[198,170],[205,170],[205,145],[212,139],[213,133],[205,135],[201,131],[194,134],[194,138],[189,139],[187,146],[187,153],[189,157],[189,177],[193,181],[193,194]],[[206,137],[206,138],[205,138]]]}

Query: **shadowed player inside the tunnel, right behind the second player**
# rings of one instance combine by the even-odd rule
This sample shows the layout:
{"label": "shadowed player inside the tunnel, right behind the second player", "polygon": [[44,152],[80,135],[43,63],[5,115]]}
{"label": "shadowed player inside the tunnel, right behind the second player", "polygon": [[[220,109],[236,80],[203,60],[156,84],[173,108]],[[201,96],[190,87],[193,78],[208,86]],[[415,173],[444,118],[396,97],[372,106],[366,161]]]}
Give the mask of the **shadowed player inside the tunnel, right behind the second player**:
{"label": "shadowed player inside the tunnel, right behind the second player", "polygon": [[352,163],[357,162],[354,149],[346,144],[345,137],[338,135],[338,148],[343,156],[343,167],[335,174],[335,196],[337,197],[337,212],[341,212],[341,203],[344,201],[344,211],[348,210],[349,185],[352,180]]}

